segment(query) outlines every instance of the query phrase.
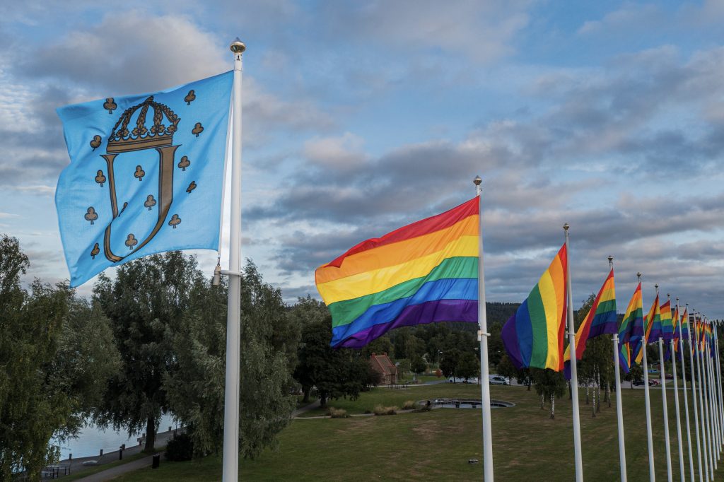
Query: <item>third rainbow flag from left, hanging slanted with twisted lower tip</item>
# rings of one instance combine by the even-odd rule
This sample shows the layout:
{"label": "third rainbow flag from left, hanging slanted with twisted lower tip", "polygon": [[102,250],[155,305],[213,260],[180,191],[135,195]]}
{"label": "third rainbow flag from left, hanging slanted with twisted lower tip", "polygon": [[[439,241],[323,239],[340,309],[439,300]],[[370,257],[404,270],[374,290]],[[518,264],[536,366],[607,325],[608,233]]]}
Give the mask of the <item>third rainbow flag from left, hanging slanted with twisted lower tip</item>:
{"label": "third rainbow flag from left, hanging slanted with twisted lower tip", "polygon": [[[618,331],[616,323],[616,289],[613,282],[613,269],[608,274],[606,281],[598,291],[598,295],[591,305],[591,309],[586,313],[581,326],[576,331],[576,360],[581,360],[586,350],[586,342],[589,339],[598,337],[602,334],[613,334]],[[563,355],[565,363],[565,377],[571,379],[571,345],[565,347]]]}

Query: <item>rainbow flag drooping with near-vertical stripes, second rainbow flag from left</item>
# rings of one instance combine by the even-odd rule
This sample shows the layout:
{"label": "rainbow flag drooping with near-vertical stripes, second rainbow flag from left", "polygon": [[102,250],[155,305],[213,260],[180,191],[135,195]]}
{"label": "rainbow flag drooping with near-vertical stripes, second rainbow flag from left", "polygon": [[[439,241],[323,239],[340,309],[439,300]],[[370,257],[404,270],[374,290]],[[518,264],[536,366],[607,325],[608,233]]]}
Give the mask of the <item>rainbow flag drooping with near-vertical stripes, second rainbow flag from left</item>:
{"label": "rainbow flag drooping with near-vertical stripes, second rainbow flag from left", "polygon": [[502,327],[503,346],[518,369],[563,370],[567,264],[563,245],[528,298]]}

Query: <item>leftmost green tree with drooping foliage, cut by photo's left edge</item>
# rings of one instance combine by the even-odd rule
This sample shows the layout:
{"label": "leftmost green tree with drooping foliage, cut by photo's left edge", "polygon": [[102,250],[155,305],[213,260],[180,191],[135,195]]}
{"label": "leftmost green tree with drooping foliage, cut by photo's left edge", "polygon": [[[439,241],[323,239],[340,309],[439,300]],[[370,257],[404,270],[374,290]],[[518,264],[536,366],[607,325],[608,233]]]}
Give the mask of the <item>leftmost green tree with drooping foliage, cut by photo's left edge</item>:
{"label": "leftmost green tree with drooping foliage, cut by photo's left edge", "polygon": [[49,441],[77,434],[101,397],[117,352],[108,321],[67,284],[36,279],[17,239],[0,237],[0,480],[41,469],[59,457]]}

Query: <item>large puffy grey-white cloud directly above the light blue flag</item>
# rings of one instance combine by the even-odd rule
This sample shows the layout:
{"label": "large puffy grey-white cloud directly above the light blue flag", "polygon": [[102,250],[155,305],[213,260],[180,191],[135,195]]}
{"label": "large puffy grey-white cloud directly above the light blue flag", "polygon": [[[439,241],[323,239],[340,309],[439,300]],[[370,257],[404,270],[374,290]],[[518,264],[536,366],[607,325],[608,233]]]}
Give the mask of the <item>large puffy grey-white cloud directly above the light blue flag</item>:
{"label": "large puffy grey-white cloud directly above the light blue flag", "polygon": [[30,75],[102,85],[114,96],[169,88],[230,69],[225,43],[189,17],[140,11],[71,30],[21,67]]}

